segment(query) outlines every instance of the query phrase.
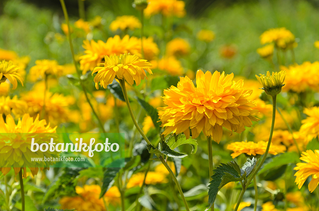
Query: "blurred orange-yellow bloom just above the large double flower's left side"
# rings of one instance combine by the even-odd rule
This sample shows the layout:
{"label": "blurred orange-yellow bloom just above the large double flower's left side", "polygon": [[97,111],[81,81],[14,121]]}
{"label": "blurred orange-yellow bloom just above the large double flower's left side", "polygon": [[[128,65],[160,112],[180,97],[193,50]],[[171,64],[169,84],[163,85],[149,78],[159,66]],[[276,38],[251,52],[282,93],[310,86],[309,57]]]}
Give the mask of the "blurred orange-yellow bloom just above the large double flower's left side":
{"label": "blurred orange-yellow bloom just above the large double flower's left side", "polygon": [[171,76],[182,76],[184,75],[184,69],[182,63],[176,59],[174,56],[165,56],[160,60],[152,60],[151,69],[159,69],[165,71]]}

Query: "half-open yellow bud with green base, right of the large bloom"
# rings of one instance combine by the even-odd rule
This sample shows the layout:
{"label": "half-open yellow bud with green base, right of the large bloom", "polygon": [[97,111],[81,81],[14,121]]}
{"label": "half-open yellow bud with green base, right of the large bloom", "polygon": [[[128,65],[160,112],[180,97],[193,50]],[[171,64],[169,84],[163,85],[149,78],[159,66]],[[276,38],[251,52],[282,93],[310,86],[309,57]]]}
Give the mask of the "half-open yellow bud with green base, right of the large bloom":
{"label": "half-open yellow bud with green base, right of the large bloom", "polygon": [[279,73],[278,72],[272,72],[270,75],[270,72],[267,71],[266,76],[263,74],[259,74],[260,76],[256,75],[257,80],[259,83],[263,86],[263,90],[266,92],[266,94],[274,96],[278,95],[281,92],[281,87],[283,87],[285,84],[285,76],[286,71],[282,70]]}

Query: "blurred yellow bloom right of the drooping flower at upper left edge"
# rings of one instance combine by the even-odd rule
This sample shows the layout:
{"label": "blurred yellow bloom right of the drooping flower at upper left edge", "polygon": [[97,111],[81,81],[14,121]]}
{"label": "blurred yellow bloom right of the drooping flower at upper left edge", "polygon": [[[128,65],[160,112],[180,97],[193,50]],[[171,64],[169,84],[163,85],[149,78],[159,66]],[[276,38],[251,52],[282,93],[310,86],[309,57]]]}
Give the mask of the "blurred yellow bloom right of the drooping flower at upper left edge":
{"label": "blurred yellow bloom right of the drooping flower at upper left edge", "polygon": [[35,66],[30,68],[29,79],[35,82],[39,78],[44,79],[45,75],[60,77],[62,74],[63,67],[56,60],[43,59],[35,61]]}

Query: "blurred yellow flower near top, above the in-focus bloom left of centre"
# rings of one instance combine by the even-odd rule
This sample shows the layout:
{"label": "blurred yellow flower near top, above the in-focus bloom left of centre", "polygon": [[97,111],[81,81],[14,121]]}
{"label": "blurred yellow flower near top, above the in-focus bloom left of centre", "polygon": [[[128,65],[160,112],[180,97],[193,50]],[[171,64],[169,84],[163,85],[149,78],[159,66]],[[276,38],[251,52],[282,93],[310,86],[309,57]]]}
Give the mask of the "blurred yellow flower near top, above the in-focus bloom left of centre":
{"label": "blurred yellow flower near top, above the in-focus bloom left of centre", "polygon": [[122,31],[130,29],[133,31],[134,29],[139,29],[141,27],[142,27],[141,22],[139,21],[138,18],[136,18],[133,15],[118,16],[110,24],[110,29],[112,31],[116,31],[118,29],[121,29]]}

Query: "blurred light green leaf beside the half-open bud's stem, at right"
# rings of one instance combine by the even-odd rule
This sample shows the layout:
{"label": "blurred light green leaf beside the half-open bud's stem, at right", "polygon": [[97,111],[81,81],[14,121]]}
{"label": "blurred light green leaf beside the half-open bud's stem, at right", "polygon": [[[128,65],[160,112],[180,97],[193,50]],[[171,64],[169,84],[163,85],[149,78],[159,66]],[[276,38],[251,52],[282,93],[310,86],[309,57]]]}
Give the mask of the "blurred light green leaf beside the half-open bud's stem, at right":
{"label": "blurred light green leaf beside the half-open bud's stem, at right", "polygon": [[258,175],[286,164],[296,164],[298,162],[300,162],[298,153],[286,152],[278,156],[274,156],[267,164],[263,164],[262,169],[258,171]]}

